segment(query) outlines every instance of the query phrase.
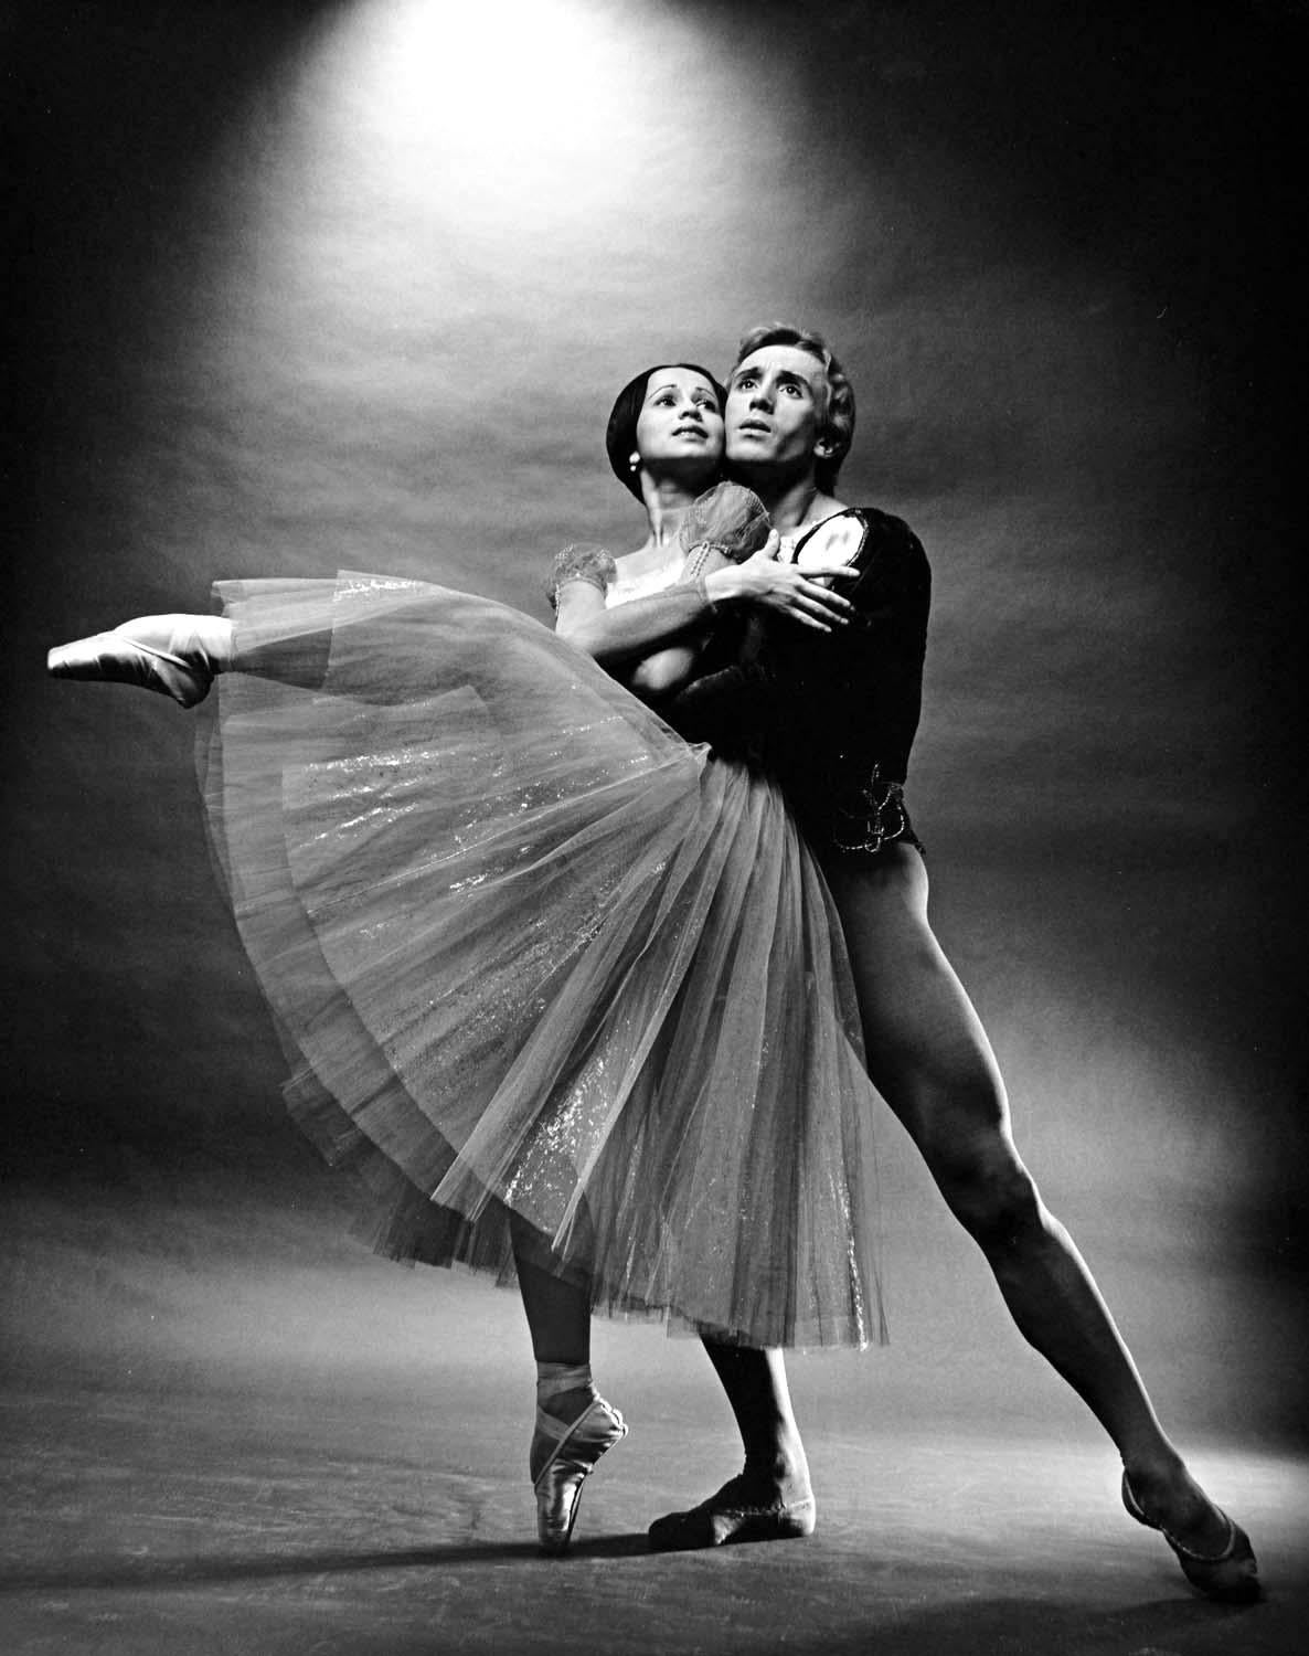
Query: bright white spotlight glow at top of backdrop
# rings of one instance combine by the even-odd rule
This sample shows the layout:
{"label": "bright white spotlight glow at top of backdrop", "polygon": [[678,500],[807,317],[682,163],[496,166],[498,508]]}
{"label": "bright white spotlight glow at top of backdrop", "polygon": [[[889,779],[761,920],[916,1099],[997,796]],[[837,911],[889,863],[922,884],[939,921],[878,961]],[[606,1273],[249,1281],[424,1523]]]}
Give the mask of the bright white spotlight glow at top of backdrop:
{"label": "bright white spotlight glow at top of backdrop", "polygon": [[[314,432],[306,475],[328,489],[386,455],[417,513],[432,487],[455,498],[452,479],[533,455],[539,512],[574,459],[544,409],[589,432],[632,361],[713,358],[778,308],[751,285],[821,286],[822,240],[761,229],[761,199],[809,190],[788,182],[789,79],[748,55],[743,71],[682,3],[324,8],[215,146],[222,257],[189,349],[258,388],[280,431]],[[591,439],[579,452],[589,467]],[[483,525],[485,505],[468,545]]]}

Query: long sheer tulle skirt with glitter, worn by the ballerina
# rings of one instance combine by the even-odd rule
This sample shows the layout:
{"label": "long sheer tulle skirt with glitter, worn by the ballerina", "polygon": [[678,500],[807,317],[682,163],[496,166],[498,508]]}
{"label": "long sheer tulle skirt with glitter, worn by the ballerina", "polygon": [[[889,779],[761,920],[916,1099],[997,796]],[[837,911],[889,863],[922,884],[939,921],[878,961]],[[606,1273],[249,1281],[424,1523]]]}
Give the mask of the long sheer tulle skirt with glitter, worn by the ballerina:
{"label": "long sheer tulle skirt with glitter, worn by the ballerina", "polygon": [[[880,1338],[872,1088],[781,797],[501,604],[223,583],[215,859],[374,1245],[751,1345]],[[300,681],[300,682],[296,682]]]}

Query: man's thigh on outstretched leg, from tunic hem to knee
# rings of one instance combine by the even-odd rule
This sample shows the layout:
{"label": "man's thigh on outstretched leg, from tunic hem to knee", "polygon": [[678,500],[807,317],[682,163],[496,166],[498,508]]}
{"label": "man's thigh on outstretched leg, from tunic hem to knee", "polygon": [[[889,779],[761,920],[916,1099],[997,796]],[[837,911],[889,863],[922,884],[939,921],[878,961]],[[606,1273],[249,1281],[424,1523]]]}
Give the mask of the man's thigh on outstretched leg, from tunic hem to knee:
{"label": "man's thigh on outstretched leg, from tunic hem to knee", "polygon": [[869,1075],[938,1174],[1008,1159],[991,1043],[927,921],[927,868],[909,845],[824,863],[859,994]]}

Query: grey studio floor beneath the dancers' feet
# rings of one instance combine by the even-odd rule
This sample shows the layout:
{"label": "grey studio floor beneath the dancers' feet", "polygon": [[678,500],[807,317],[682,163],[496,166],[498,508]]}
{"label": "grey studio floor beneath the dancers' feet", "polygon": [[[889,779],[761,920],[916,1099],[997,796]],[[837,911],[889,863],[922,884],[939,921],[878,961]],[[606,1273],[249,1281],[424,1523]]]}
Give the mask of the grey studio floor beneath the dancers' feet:
{"label": "grey studio floor beneath the dancers' feet", "polygon": [[[505,1295],[477,1290],[488,1326]],[[477,1320],[465,1318],[465,1331]],[[1195,1598],[1117,1505],[1094,1429],[948,1418],[930,1388],[841,1408],[846,1360],[796,1368],[819,1494],[806,1542],[654,1555],[660,1510],[733,1466],[690,1341],[601,1340],[632,1432],[574,1548],[533,1545],[530,1378],[496,1338],[326,1384],[248,1358],[94,1384],[30,1368],[2,1399],[0,1648],[13,1656],[844,1653],[1289,1656],[1309,1616],[1309,1466],[1221,1442],[1193,1464],[1256,1540],[1261,1603]],[[877,1361],[872,1355],[865,1361]],[[814,1374],[819,1376],[814,1379]]]}

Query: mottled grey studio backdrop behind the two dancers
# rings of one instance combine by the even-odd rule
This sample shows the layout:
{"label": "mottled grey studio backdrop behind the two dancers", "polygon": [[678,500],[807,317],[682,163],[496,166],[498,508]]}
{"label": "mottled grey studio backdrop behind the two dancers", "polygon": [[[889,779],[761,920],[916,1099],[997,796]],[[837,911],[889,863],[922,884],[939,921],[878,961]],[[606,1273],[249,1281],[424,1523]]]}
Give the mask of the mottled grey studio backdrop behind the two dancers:
{"label": "mottled grey studio backdrop behind the two dancers", "polygon": [[[20,1373],[526,1365],[510,1300],[343,1240],[192,720],[48,684],[46,646],[338,566],[544,618],[559,543],[640,535],[617,386],[789,316],[859,391],[842,492],[935,566],[910,798],[1019,1139],[1170,1414],[1296,1429],[1304,7],[46,0],[0,30]],[[1071,1419],[882,1146],[895,1345],[804,1371]]]}

